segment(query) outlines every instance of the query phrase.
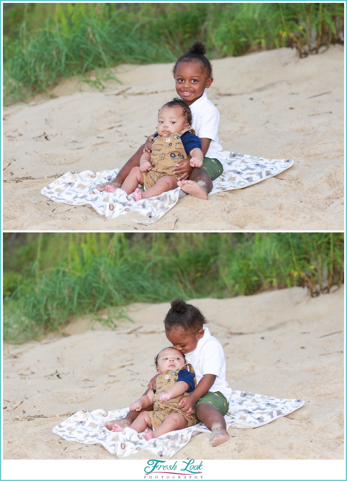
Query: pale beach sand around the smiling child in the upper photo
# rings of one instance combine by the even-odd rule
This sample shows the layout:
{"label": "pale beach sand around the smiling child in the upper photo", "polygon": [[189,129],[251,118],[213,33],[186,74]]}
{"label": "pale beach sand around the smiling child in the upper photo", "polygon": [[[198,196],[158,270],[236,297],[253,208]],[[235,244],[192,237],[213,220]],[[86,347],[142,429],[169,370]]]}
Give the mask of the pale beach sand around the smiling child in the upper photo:
{"label": "pale beach sand around the smiling child in the upper photo", "polygon": [[[71,79],[54,89],[56,98],[4,108],[3,228],[133,230],[131,213],[105,220],[87,206],[53,203],[40,190],[72,169],[124,165],[155,131],[158,108],[176,95],[171,66],[123,65],[116,73],[122,85],[78,91]],[[213,68],[207,93],[220,113],[224,150],[295,164],[208,202],[186,196],[160,221],[137,230],[342,230],[343,47],[304,59],[291,49],[263,51],[215,60]]]}

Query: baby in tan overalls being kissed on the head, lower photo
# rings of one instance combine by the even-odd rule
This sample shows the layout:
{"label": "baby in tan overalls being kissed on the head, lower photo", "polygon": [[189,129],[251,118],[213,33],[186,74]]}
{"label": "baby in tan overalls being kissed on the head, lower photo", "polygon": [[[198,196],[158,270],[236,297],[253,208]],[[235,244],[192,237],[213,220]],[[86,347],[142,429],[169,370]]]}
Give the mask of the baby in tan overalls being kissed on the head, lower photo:
{"label": "baby in tan overalls being kissed on the head, lower photo", "polygon": [[[154,361],[159,373],[156,389],[148,391],[129,406],[130,411],[141,411],[130,428],[137,432],[144,431],[147,441],[170,431],[194,426],[197,422],[195,409],[183,412],[178,407],[182,395],[188,396],[196,386],[192,365],[186,365],[184,355],[174,347],[160,351]],[[152,404],[153,411],[142,411]],[[117,423],[113,426],[114,432],[123,429]]]}

